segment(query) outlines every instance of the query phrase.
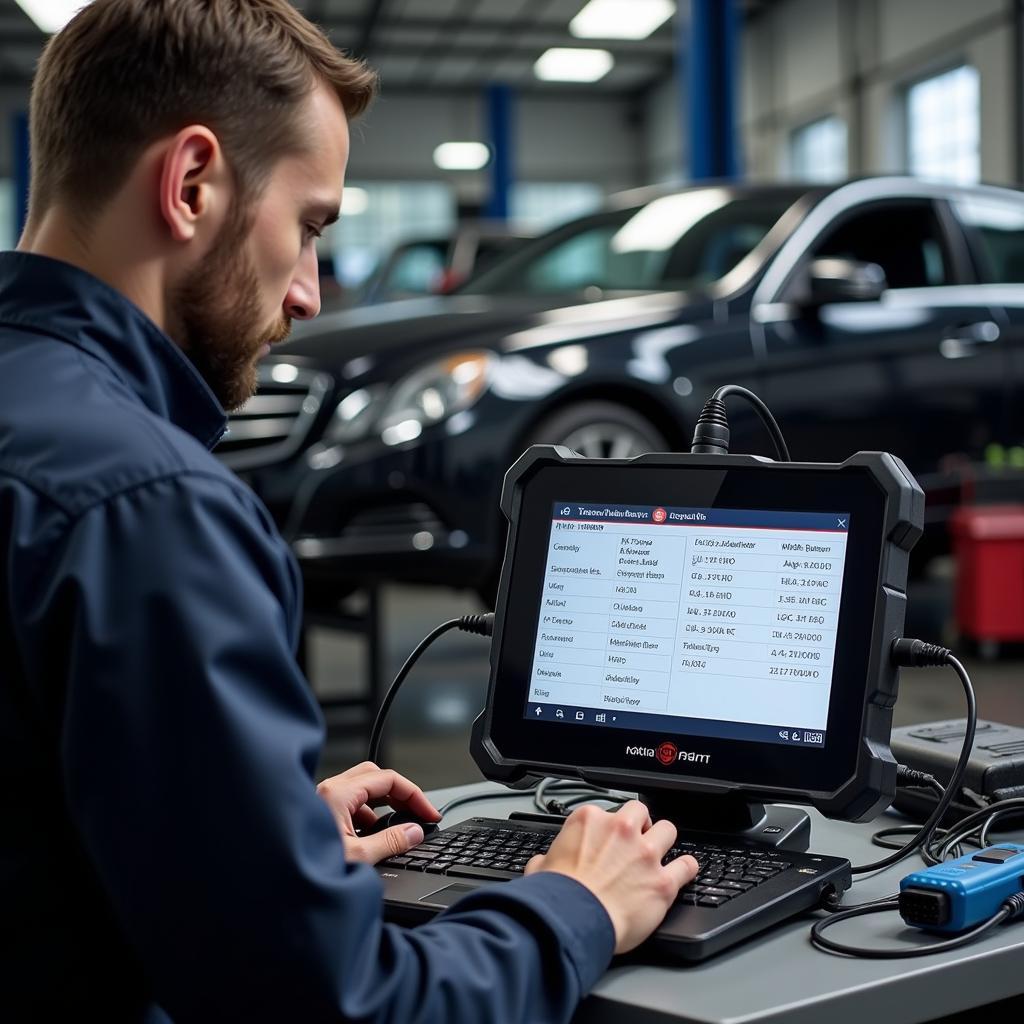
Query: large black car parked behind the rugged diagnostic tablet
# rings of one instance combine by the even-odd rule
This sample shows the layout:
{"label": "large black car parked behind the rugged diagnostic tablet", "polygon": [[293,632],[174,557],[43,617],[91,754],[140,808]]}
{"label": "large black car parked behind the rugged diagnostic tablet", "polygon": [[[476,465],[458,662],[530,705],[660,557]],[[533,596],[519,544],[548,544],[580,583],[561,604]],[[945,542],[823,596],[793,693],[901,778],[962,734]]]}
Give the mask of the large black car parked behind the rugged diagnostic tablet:
{"label": "large black car parked behind the rugged diagnostic tablet", "polygon": [[[703,400],[736,383],[795,459],[894,452],[944,501],[965,466],[1024,438],[1022,339],[1017,191],[643,190],[457,295],[302,325],[220,452],[292,541],[314,604],[368,580],[488,594],[502,477],[531,442],[686,451]],[[741,406],[730,425],[734,452],[772,454]]]}

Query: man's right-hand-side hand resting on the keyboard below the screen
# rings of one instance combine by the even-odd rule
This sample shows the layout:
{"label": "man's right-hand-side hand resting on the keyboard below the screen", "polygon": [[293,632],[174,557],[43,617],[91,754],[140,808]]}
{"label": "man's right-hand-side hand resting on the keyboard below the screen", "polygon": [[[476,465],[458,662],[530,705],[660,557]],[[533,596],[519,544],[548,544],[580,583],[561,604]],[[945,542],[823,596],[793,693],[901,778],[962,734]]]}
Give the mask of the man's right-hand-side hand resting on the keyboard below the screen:
{"label": "man's right-hand-side hand resting on the keyboard below the screen", "polygon": [[566,818],[547,854],[529,861],[526,873],[558,871],[585,885],[608,911],[615,952],[624,953],[657,928],[679,890],[697,873],[690,856],[662,865],[675,841],[676,826],[651,825],[637,800],[614,814],[585,805]]}

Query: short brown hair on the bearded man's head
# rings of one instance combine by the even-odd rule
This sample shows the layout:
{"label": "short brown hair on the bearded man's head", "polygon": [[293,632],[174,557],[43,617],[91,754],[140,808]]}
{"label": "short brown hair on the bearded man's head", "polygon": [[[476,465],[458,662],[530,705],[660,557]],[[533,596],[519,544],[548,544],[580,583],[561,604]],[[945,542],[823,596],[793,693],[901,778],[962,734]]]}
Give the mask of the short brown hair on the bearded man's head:
{"label": "short brown hair on the bearded man's head", "polygon": [[142,151],[188,124],[220,139],[245,201],[301,146],[296,112],[323,81],[349,118],[377,76],[286,0],[95,0],[43,52],[32,87],[31,216],[87,222]]}

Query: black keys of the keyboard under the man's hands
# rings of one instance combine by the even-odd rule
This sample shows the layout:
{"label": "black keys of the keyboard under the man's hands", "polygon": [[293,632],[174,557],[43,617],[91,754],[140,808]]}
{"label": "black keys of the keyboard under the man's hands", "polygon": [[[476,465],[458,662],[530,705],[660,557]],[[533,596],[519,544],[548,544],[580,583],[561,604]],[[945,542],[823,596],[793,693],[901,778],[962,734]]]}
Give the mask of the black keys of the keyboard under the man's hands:
{"label": "black keys of the keyboard under the man's hands", "polygon": [[[514,822],[515,827],[503,827],[507,824],[455,825],[429,836],[414,850],[390,857],[380,866],[483,881],[515,879],[522,874],[530,857],[548,852],[558,833],[520,822]],[[729,847],[685,840],[679,840],[669,851],[665,863],[684,854],[696,859],[700,871],[680,892],[679,902],[694,906],[721,906],[793,866],[784,852],[768,847]]]}

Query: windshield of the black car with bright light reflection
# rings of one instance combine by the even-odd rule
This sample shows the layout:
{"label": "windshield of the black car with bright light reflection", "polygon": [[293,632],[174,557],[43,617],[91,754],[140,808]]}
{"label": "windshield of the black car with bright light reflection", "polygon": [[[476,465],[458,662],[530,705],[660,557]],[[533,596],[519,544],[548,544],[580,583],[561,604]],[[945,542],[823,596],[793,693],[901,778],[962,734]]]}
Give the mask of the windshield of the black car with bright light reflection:
{"label": "windshield of the black car with bright light reflection", "polygon": [[697,188],[595,214],[526,244],[462,291],[543,295],[699,288],[736,266],[795,199]]}

